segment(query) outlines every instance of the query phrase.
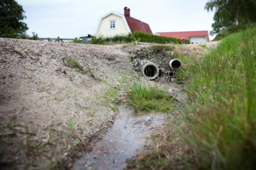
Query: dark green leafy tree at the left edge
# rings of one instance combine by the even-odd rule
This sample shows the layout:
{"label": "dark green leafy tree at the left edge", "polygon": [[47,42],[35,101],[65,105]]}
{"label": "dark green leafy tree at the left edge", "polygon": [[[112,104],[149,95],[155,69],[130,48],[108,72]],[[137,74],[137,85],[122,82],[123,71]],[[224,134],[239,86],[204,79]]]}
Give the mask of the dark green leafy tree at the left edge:
{"label": "dark green leafy tree at the left edge", "polygon": [[15,0],[0,0],[0,37],[22,38],[28,30],[24,10]]}

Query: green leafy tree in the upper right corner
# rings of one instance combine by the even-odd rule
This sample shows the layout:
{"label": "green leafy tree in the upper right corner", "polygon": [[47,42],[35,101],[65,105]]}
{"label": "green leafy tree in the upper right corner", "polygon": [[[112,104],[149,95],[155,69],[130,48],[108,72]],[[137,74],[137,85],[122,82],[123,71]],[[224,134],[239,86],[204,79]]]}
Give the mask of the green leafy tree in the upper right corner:
{"label": "green leafy tree in the upper right corner", "polygon": [[256,22],[256,0],[210,0],[205,9],[215,11],[211,34],[231,25]]}

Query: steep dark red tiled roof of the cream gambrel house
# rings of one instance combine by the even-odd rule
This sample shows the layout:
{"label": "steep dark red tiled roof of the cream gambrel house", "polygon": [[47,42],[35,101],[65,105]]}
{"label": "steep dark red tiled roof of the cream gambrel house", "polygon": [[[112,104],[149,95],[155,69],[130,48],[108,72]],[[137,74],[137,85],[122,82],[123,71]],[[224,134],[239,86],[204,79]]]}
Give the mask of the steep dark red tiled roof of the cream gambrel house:
{"label": "steep dark red tiled roof of the cream gambrel house", "polygon": [[146,32],[146,33],[152,34],[152,31],[148,23],[143,23],[142,21],[132,18],[130,16],[125,16],[125,19],[132,33],[134,33],[135,31],[140,31],[140,32]]}

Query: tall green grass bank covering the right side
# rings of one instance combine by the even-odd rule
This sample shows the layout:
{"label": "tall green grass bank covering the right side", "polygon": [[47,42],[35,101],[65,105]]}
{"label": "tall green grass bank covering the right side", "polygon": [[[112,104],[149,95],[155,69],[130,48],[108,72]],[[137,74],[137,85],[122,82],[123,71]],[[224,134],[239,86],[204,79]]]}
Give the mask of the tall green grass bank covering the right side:
{"label": "tall green grass bank covering the right side", "polygon": [[196,168],[256,168],[256,27],[223,39],[182,73]]}

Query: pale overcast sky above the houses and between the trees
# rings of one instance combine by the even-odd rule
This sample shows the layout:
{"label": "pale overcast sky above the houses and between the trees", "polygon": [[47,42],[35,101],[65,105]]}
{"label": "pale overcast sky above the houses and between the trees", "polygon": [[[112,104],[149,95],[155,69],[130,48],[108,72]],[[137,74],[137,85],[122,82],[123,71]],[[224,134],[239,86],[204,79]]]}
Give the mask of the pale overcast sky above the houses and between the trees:
{"label": "pale overcast sky above the houses and between the trees", "polygon": [[[41,38],[75,38],[95,34],[99,18],[109,11],[124,13],[149,23],[153,33],[211,31],[213,12],[208,0],[16,0],[25,10],[25,23]],[[210,39],[213,37],[210,36]]]}

